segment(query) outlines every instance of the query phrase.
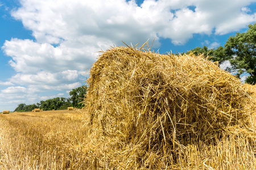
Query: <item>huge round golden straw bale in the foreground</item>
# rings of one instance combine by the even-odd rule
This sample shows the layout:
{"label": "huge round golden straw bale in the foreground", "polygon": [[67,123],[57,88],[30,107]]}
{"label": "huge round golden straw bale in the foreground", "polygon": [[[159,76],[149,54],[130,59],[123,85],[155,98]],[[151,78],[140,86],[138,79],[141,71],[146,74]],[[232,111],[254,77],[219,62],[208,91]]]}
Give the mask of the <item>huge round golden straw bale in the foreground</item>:
{"label": "huge round golden straw bale in the foreground", "polygon": [[165,167],[178,147],[210,141],[250,115],[240,80],[193,53],[111,48],[93,64],[87,83],[90,133],[119,155],[122,167]]}

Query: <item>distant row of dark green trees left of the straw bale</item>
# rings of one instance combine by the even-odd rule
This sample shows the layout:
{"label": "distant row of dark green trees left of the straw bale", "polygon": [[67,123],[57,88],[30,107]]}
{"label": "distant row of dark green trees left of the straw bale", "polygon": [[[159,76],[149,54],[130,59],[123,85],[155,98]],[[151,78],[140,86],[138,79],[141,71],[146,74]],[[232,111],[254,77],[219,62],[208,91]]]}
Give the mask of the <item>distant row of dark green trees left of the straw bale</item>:
{"label": "distant row of dark green trees left of the straw bale", "polygon": [[82,101],[85,99],[87,87],[81,86],[78,88],[72,89],[69,92],[71,97],[55,97],[53,99],[48,99],[45,101],[40,101],[40,103],[26,105],[24,103],[19,104],[18,107],[14,110],[14,112],[31,112],[35,108],[43,109],[44,111],[52,111],[55,110],[64,110],[68,107],[81,108]]}

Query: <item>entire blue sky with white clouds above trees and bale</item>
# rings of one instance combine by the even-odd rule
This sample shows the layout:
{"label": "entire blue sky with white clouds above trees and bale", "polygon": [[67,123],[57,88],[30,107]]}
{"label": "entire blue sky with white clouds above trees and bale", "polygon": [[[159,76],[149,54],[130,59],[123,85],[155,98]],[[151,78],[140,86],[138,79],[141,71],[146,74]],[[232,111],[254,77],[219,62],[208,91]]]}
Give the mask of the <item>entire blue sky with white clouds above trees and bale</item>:
{"label": "entire blue sky with white clouds above trees and bale", "polygon": [[256,0],[0,0],[0,112],[69,97],[111,46],[213,49],[255,22]]}

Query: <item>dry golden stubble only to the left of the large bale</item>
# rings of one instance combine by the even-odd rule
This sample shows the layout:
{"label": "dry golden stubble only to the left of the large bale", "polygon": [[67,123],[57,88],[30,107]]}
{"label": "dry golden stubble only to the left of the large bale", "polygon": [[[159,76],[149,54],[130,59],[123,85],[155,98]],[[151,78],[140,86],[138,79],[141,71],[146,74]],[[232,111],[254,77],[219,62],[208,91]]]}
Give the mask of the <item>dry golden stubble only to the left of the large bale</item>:
{"label": "dry golden stubble only to the left of the large bale", "polygon": [[2,115],[0,169],[84,169],[84,119],[79,111]]}

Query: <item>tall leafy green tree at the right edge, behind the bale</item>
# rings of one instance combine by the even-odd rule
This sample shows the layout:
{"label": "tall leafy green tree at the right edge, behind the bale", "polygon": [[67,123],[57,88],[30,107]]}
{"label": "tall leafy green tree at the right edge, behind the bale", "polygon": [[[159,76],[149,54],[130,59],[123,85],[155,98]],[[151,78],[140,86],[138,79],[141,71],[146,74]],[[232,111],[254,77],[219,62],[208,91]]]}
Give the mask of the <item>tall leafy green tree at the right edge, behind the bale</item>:
{"label": "tall leafy green tree at the right edge, behind the bale", "polygon": [[225,44],[226,58],[229,59],[231,68],[240,78],[243,73],[249,73],[246,83],[256,83],[256,23],[248,25],[247,32],[236,33],[230,36]]}

